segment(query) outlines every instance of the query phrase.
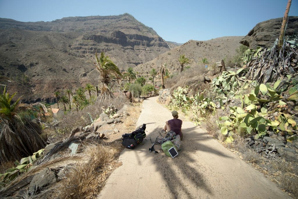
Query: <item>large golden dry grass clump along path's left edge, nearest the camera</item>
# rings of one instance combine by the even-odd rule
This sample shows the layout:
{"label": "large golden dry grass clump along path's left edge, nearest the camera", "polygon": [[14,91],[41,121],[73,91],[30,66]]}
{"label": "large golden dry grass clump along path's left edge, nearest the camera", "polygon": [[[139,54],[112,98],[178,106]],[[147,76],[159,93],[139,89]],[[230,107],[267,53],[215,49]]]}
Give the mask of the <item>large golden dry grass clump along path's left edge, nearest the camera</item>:
{"label": "large golden dry grass clump along path's left edge, nearest the camera", "polygon": [[91,162],[70,170],[50,198],[96,198],[111,172],[121,165],[116,161],[121,150],[115,142],[87,146],[83,153],[93,157]]}

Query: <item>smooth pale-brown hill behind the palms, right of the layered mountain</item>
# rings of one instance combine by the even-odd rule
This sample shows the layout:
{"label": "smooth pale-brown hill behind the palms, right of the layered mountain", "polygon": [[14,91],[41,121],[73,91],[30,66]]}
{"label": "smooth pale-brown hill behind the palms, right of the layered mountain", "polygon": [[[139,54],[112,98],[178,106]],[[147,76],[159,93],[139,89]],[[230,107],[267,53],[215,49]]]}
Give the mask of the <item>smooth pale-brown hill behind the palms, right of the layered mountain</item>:
{"label": "smooth pale-brown hill behind the palms, right of the layered mountain", "polygon": [[220,62],[225,57],[234,56],[236,53],[235,49],[240,46],[239,42],[242,38],[243,36],[232,36],[208,41],[190,40],[147,63],[139,64],[135,70],[139,71],[140,74],[148,74],[152,68],[159,70],[160,66],[166,63],[170,73],[173,74],[179,69],[178,57],[181,54],[185,54],[185,57],[192,61],[190,64],[187,64],[189,66],[197,65],[203,58],[207,58],[211,66],[212,63]]}

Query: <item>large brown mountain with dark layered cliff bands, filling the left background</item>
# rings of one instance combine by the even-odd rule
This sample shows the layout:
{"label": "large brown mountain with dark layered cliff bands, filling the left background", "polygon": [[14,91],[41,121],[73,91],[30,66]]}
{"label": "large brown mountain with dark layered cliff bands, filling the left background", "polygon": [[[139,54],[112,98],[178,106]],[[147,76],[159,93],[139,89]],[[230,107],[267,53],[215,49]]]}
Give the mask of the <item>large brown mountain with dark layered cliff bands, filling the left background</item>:
{"label": "large brown mountain with dark layered cliff bands, filling the left background", "polygon": [[0,75],[24,101],[51,101],[58,90],[97,83],[95,52],[106,52],[120,70],[170,50],[156,32],[129,14],[67,17],[51,22],[0,18]]}

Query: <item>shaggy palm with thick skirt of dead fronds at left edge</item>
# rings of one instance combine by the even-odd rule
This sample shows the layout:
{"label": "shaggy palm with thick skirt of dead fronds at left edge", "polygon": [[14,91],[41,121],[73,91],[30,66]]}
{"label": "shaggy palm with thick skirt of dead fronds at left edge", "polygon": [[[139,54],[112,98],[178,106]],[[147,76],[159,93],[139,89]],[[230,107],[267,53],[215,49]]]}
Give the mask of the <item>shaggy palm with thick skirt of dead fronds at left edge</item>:
{"label": "shaggy palm with thick skirt of dead fronds at left edge", "polygon": [[24,156],[44,148],[41,126],[32,120],[34,107],[20,102],[13,102],[13,95],[0,94],[0,162],[19,160]]}

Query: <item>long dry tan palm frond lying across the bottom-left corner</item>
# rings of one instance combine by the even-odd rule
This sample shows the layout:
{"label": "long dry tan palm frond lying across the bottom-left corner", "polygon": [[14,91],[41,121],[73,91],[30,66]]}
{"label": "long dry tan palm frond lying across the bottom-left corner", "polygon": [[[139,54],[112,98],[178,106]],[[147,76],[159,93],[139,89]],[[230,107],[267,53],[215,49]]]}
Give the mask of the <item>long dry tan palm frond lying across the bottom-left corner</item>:
{"label": "long dry tan palm frond lying across the bottom-left corner", "polygon": [[0,198],[12,196],[16,191],[30,184],[33,176],[45,168],[58,168],[64,167],[68,164],[77,164],[89,162],[90,156],[64,156],[55,158],[51,161],[46,161],[43,164],[32,167],[28,172],[20,175],[15,180],[8,183],[2,190],[0,190]]}

